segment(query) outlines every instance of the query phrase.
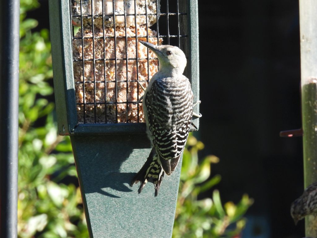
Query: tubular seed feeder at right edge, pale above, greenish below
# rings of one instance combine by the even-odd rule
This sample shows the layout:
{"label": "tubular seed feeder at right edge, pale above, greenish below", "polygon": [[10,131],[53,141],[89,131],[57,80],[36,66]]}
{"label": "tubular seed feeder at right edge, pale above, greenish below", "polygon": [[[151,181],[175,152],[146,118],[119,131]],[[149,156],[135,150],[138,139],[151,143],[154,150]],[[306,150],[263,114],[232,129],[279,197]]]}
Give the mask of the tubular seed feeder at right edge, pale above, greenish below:
{"label": "tubular seed feeder at right edge, pale above, greenish below", "polygon": [[[300,0],[301,100],[305,188],[317,182],[317,2]],[[317,215],[305,220],[306,236],[317,237]]]}

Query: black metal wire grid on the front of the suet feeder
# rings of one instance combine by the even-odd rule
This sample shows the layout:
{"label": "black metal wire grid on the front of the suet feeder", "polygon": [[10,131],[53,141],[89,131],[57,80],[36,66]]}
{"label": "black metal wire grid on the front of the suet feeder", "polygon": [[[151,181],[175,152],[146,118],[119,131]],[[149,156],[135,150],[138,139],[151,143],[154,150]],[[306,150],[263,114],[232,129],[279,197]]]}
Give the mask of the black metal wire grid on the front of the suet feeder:
{"label": "black metal wire grid on the front of the suet feeder", "polygon": [[[70,20],[72,22],[73,18],[80,18],[80,27],[81,27],[81,37],[76,37],[74,35],[74,25],[72,25],[72,40],[81,40],[81,59],[73,59],[73,62],[82,62],[82,81],[76,81],[76,78],[74,79],[75,84],[82,84],[82,90],[83,90],[83,102],[76,102],[77,106],[80,106],[83,110],[83,120],[82,122],[84,124],[92,123],[87,122],[87,112],[86,108],[89,106],[94,107],[94,123],[100,123],[97,122],[97,111],[96,107],[97,105],[104,105],[104,122],[101,123],[108,123],[107,117],[109,116],[107,114],[107,105],[114,104],[115,105],[115,121],[114,123],[118,123],[118,104],[126,104],[126,122],[129,122],[128,118],[128,109],[129,104],[135,102],[135,101],[129,101],[128,100],[128,89],[129,89],[129,83],[130,82],[136,82],[135,80],[128,80],[128,61],[129,60],[135,60],[136,62],[136,78],[139,80],[139,60],[146,60],[147,61],[147,83],[149,82],[149,61],[150,60],[157,60],[157,58],[149,57],[149,49],[147,49],[147,57],[146,58],[139,58],[138,57],[138,39],[139,38],[146,38],[147,41],[149,41],[149,38],[155,37],[157,38],[157,43],[159,44],[159,39],[163,39],[163,44],[170,44],[170,45],[177,45],[180,49],[182,49],[188,57],[188,35],[187,35],[187,0],[156,0],[156,14],[150,14],[147,13],[147,0],[144,0],[145,2],[145,14],[138,14],[137,12],[137,0],[134,0],[134,14],[127,14],[126,13],[126,1],[123,0],[124,5],[124,14],[115,14],[113,11],[112,14],[107,15],[104,12],[104,4],[107,0],[97,0],[101,1],[102,3],[102,14],[94,14],[94,3],[96,0],[80,0],[80,14],[79,15],[73,15],[72,14],[72,2],[74,0],[69,0],[70,4]],[[91,3],[91,14],[82,14],[82,3],[84,1],[90,1]],[[112,7],[113,10],[115,9],[115,1],[112,1]],[[160,4],[160,9],[158,8]],[[166,11],[165,11],[166,9]],[[160,11],[160,13],[159,13]],[[165,11],[165,12],[164,12]],[[116,35],[116,29],[115,29],[115,21],[116,17],[124,17],[124,29],[125,29],[125,36],[117,36]],[[138,35],[137,29],[135,29],[135,36],[127,36],[127,23],[126,19],[127,16],[133,16],[134,17],[134,24],[137,26],[137,16],[145,16],[146,18],[146,35]],[[151,27],[148,27],[148,16],[155,16],[156,17],[156,23],[153,24]],[[83,25],[83,19],[84,18],[91,18],[91,28],[92,28],[92,36],[84,36],[84,25]],[[95,36],[94,34],[94,19],[97,17],[102,17],[102,29],[103,29],[103,36]],[[113,36],[105,36],[105,17],[113,17]],[[171,19],[172,18],[172,19]],[[156,30],[155,36],[149,36],[148,30]],[[174,34],[171,34],[171,31]],[[160,34],[162,32],[163,34]],[[176,33],[176,34],[175,34]],[[124,38],[125,40],[125,52],[126,55],[124,58],[117,58],[117,39]],[[136,55],[135,57],[128,57],[128,38],[135,38],[136,40]],[[84,57],[84,39],[92,39],[92,45],[93,45],[93,58],[92,59],[85,59]],[[96,58],[95,57],[95,40],[96,39],[103,39],[103,58]],[[106,39],[113,39],[114,40],[114,58],[106,58],[106,47],[105,42]],[[126,62],[126,80],[117,80],[117,62],[119,60],[124,60]],[[96,80],[96,61],[102,61],[103,62],[103,75],[104,79],[102,81]],[[107,81],[107,68],[106,68],[106,62],[114,61],[114,76],[115,80],[108,80]],[[92,62],[93,65],[93,81],[91,80],[85,80],[85,62]],[[157,61],[158,62],[158,61]],[[158,65],[159,67],[159,65]],[[184,75],[188,76],[188,68],[186,67]],[[144,82],[144,81],[141,81]],[[85,84],[87,83],[93,83],[94,87],[94,100],[93,102],[86,102],[86,96],[85,96]],[[104,102],[96,102],[96,83],[104,83]],[[115,102],[109,102],[107,101],[107,83],[115,83]],[[118,83],[126,83],[126,102],[118,102]],[[139,100],[139,85],[137,85],[137,99]],[[139,123],[139,110],[140,105],[137,105],[137,122]],[[82,123],[81,122],[81,123]]]}

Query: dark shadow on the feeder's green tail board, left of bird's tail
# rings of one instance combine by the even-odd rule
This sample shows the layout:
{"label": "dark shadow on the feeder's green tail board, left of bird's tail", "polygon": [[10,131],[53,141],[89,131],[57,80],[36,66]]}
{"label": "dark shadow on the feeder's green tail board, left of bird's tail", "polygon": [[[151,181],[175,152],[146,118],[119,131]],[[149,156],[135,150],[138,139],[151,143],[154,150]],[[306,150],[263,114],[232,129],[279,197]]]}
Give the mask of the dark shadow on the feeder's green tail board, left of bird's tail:
{"label": "dark shadow on the feeder's green tail board, left of bird's tail", "polygon": [[[128,162],[131,170],[122,168],[128,158],[133,158],[133,151],[150,147],[150,141],[144,135],[125,135],[123,144],[122,135],[86,136],[84,138],[71,136],[72,146],[76,159],[76,166],[80,168],[80,180],[84,186],[84,193],[100,193],[113,198],[120,198],[122,192],[133,191],[130,182],[135,175],[133,171],[136,162]],[[96,142],[89,145],[87,141]],[[102,145],[102,146],[100,146]],[[118,146],[119,145],[119,146]],[[146,160],[148,153],[144,153]],[[93,175],[93,176],[91,176]]]}

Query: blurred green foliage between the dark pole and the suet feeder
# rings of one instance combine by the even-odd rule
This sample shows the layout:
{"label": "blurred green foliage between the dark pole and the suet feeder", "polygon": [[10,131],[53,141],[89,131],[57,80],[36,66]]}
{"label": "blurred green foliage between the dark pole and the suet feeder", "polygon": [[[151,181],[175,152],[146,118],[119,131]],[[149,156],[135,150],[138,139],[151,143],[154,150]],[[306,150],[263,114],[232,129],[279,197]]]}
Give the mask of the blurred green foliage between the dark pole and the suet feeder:
{"label": "blurred green foliage between the dark pole and the suet feeder", "polygon": [[49,31],[31,32],[37,21],[26,12],[37,0],[20,4],[18,236],[88,237],[80,190],[63,183],[77,176],[70,141],[57,135],[47,99],[53,94]]}

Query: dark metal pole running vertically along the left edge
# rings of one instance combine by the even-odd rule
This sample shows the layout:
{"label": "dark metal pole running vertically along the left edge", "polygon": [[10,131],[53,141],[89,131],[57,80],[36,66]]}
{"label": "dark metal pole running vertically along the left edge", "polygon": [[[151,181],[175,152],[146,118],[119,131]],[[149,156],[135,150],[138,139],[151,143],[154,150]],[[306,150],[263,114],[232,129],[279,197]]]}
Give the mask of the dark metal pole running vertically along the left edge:
{"label": "dark metal pole running vertically along the left edge", "polygon": [[0,237],[17,237],[19,0],[0,0]]}

